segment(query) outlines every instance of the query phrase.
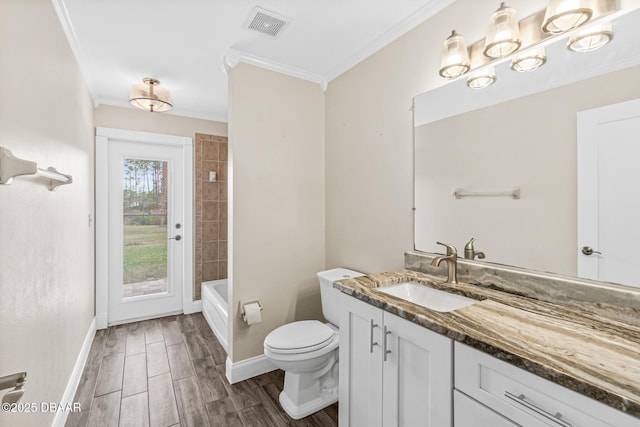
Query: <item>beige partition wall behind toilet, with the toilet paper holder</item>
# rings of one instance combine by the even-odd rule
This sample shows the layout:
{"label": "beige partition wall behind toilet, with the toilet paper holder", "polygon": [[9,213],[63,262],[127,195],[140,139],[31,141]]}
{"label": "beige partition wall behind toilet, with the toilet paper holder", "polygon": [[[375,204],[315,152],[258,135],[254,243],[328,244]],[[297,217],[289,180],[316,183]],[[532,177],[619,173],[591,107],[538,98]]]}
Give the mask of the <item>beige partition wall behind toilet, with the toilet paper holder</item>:
{"label": "beige partition wall behind toilet, with the toilet paper holder", "polygon": [[[321,318],[324,94],[307,81],[239,64],[229,76],[230,357],[262,354],[274,328]],[[260,298],[263,321],[239,318]]]}

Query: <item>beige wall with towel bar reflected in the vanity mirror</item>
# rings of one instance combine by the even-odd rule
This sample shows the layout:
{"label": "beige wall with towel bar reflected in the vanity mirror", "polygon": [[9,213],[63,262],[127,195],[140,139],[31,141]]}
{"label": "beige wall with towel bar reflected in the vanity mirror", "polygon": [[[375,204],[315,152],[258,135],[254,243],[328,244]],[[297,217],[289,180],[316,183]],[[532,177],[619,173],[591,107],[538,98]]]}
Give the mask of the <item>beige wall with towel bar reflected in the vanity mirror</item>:
{"label": "beige wall with towel bar reflected in the vanity mirror", "polygon": [[[576,114],[640,97],[638,75],[633,67],[416,128],[417,248],[461,249],[476,237],[486,261],[575,276]],[[451,197],[514,185],[521,200]]]}

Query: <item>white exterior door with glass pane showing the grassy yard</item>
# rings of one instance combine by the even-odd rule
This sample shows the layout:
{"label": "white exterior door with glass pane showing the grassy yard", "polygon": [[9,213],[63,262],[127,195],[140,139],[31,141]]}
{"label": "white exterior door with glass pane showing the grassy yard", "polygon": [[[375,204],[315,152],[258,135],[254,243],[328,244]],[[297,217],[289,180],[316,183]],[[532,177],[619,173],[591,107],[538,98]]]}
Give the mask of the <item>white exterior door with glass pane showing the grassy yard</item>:
{"label": "white exterior door with glass pane showing the grassy yard", "polygon": [[106,131],[96,139],[99,327],[190,312],[191,139]]}

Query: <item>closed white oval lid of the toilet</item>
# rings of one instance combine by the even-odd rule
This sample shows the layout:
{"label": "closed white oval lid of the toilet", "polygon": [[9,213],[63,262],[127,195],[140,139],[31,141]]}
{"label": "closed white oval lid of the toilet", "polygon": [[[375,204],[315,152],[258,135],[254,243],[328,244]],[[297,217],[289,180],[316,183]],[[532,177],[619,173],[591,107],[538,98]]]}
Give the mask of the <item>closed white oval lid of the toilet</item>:
{"label": "closed white oval lid of the toilet", "polygon": [[336,332],[317,320],[302,320],[274,329],[264,345],[280,353],[301,353],[327,346]]}

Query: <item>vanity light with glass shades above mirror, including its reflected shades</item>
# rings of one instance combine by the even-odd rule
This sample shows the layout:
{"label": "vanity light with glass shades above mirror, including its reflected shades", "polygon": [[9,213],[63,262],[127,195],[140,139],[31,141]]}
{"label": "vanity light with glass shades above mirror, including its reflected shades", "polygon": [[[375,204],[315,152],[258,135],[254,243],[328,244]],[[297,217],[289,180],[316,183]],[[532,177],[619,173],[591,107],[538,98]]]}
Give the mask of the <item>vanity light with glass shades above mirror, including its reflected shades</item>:
{"label": "vanity light with glass shades above mirror, including its reflected shades", "polygon": [[469,49],[458,32],[451,33],[444,42],[439,73],[449,80],[469,73],[467,86],[482,89],[496,81],[493,68],[506,59],[517,72],[543,66],[545,46],[566,37],[567,31],[570,50],[598,49],[613,39],[611,23],[606,20],[617,10],[616,0],[549,0],[546,9],[518,21],[515,10],[501,2],[491,15],[487,36]]}

